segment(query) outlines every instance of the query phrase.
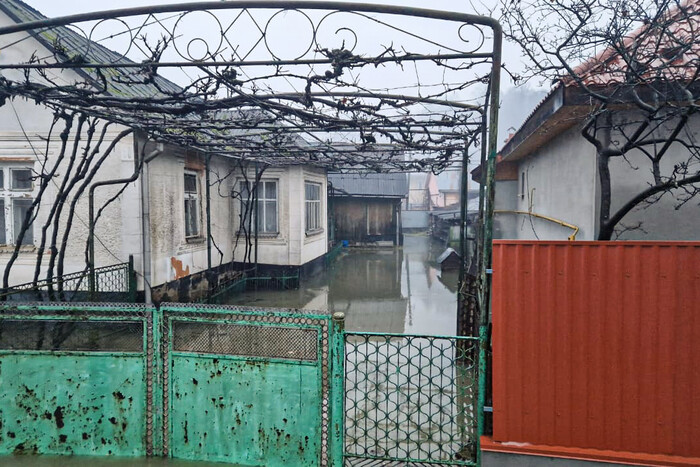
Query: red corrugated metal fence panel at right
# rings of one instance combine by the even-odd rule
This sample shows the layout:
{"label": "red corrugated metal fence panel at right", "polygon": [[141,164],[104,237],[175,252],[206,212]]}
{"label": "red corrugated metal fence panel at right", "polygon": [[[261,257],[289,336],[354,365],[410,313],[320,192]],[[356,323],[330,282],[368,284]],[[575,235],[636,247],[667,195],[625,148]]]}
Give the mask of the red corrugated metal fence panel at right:
{"label": "red corrugated metal fence panel at right", "polygon": [[700,457],[700,242],[493,253],[495,441]]}

